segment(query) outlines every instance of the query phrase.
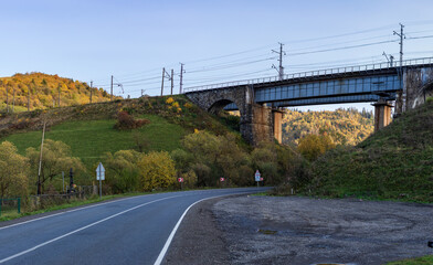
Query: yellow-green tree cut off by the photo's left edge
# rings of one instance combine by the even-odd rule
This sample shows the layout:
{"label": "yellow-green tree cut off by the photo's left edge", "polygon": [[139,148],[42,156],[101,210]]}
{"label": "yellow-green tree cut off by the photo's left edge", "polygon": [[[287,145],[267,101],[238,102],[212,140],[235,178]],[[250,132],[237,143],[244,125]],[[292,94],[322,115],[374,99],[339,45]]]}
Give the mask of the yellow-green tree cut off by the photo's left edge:
{"label": "yellow-green tree cut off by the photo's left edge", "polygon": [[13,144],[0,144],[0,198],[27,194],[28,168],[27,158],[18,153]]}

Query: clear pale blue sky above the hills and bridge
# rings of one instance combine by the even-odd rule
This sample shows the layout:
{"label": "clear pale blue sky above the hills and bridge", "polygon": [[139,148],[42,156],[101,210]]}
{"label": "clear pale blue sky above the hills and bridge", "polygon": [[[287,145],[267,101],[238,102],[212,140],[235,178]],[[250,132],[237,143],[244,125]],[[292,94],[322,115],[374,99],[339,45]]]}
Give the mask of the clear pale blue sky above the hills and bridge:
{"label": "clear pale blue sky above the hills and bridge", "polygon": [[[159,95],[162,67],[183,88],[433,56],[431,0],[0,0],[0,76],[59,74],[114,93]],[[165,94],[170,82],[165,80]],[[344,107],[361,105],[342,105]],[[328,109],[336,106],[308,107]]]}

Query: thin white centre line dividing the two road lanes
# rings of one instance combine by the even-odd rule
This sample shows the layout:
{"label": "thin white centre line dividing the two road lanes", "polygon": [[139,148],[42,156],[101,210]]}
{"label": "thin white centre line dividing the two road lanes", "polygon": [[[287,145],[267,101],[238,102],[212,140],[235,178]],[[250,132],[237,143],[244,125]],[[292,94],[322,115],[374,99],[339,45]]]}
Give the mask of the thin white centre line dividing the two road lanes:
{"label": "thin white centre line dividing the two road lanes", "polygon": [[125,210],[125,211],[122,211],[122,212],[119,212],[119,213],[113,214],[113,215],[110,215],[110,216],[108,216],[108,218],[105,218],[105,219],[102,219],[102,220],[96,221],[96,222],[94,222],[94,223],[87,224],[86,226],[83,226],[83,227],[81,227],[81,229],[74,230],[74,231],[72,231],[72,232],[70,232],[70,233],[66,233],[66,234],[61,235],[61,236],[57,236],[57,237],[55,237],[55,239],[53,239],[53,240],[50,240],[50,241],[46,241],[46,242],[44,242],[44,243],[42,243],[42,244],[35,245],[35,246],[33,246],[33,247],[31,247],[31,248],[29,248],[29,250],[27,250],[27,251],[23,251],[23,252],[20,252],[20,253],[14,254],[14,255],[12,255],[12,256],[6,257],[6,258],[1,259],[0,263],[4,263],[4,262],[8,262],[8,261],[11,261],[11,259],[13,259],[13,258],[15,258],[15,257],[19,257],[19,256],[22,256],[22,255],[24,255],[24,254],[27,254],[27,253],[29,253],[29,252],[35,251],[35,250],[38,250],[38,248],[40,248],[40,247],[42,247],[42,246],[44,246],[44,245],[51,244],[51,243],[53,243],[53,242],[55,242],[55,241],[59,241],[59,240],[61,240],[61,239],[64,239],[64,237],[70,236],[70,235],[72,235],[72,234],[75,234],[75,233],[77,233],[77,232],[80,232],[80,231],[83,231],[83,230],[85,230],[85,229],[92,227],[92,226],[94,226],[94,225],[96,225],[96,224],[99,224],[99,223],[105,222],[105,221],[107,221],[107,220],[114,219],[114,218],[116,218],[116,216],[118,216],[118,215],[122,215],[122,214],[124,214],[124,213],[130,212],[130,211],[136,210],[136,209],[138,209],[138,208],[146,206],[146,205],[151,204],[151,203],[154,203],[154,202],[163,201],[163,200],[168,200],[168,199],[172,199],[172,198],[177,198],[177,197],[182,197],[182,195],[175,195],[175,197],[162,198],[162,199],[158,199],[158,200],[155,200],[155,201],[150,201],[150,202],[146,202],[146,203],[139,204],[139,205],[134,206],[134,208],[129,208],[128,210]]}

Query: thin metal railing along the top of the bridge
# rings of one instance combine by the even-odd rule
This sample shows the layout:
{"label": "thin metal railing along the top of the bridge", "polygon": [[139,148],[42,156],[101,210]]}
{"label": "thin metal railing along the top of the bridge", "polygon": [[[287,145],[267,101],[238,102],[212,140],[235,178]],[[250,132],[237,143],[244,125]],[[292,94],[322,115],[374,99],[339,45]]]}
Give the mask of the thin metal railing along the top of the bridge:
{"label": "thin metal railing along the top of the bridge", "polygon": [[[422,65],[422,64],[433,64],[433,57],[410,59],[402,62],[402,66],[412,66],[412,65]],[[283,80],[279,80],[279,76],[268,76],[268,77],[260,77],[253,80],[240,80],[240,81],[230,81],[230,82],[223,82],[223,83],[216,83],[210,85],[191,86],[191,87],[186,87],[183,91],[188,93],[194,91],[207,91],[207,89],[215,89],[215,88],[223,88],[230,86],[266,84],[266,83],[272,83],[277,81],[308,78],[308,77],[326,76],[326,75],[334,75],[334,74],[347,74],[347,73],[352,74],[352,73],[361,73],[361,72],[369,72],[369,71],[381,71],[388,68],[395,68],[399,66],[400,66],[399,62],[395,62],[394,66],[390,66],[389,63],[377,63],[377,64],[355,65],[355,66],[347,66],[347,67],[335,67],[335,68],[300,72],[294,74],[285,74],[283,76]]]}

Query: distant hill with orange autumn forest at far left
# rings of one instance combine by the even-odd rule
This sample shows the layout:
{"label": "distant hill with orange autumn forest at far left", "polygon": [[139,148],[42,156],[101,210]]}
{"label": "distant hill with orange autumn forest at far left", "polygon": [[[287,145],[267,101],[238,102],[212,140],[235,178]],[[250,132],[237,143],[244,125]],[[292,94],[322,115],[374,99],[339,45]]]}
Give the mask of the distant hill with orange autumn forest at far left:
{"label": "distant hill with orange autumn forest at far left", "polygon": [[95,87],[91,89],[84,82],[44,73],[15,74],[11,77],[0,77],[0,112],[6,110],[7,100],[10,109],[14,100],[15,112],[27,110],[29,91],[30,110],[57,107],[59,92],[61,106],[89,103],[91,91],[93,103],[109,100],[106,91]]}

